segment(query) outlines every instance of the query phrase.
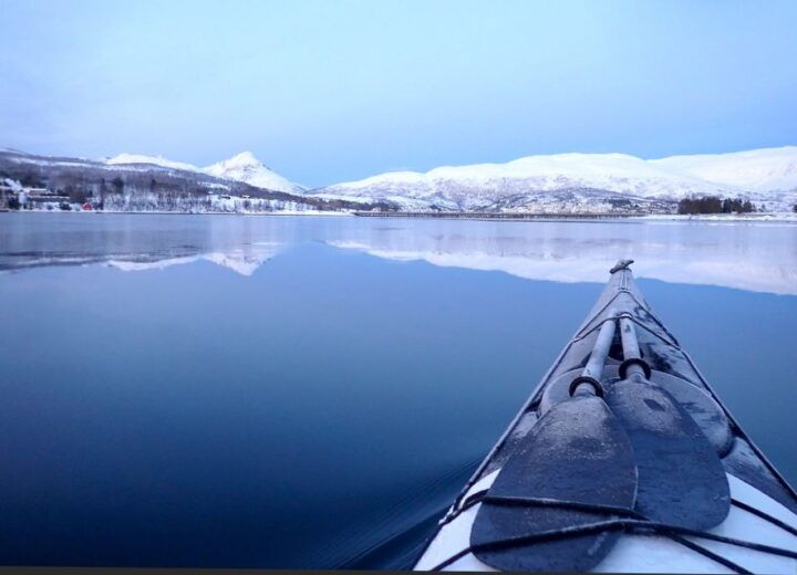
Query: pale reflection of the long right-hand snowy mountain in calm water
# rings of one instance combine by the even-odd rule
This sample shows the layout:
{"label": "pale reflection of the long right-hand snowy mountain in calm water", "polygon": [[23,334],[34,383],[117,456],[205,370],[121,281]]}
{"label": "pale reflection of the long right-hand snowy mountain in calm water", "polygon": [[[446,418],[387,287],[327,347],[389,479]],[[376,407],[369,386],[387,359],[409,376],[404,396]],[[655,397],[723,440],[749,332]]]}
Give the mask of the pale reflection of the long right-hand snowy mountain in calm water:
{"label": "pale reflection of the long right-hand snowy mountain in calm water", "polygon": [[[797,229],[790,231],[797,236]],[[764,245],[741,249],[734,244],[662,243],[621,238],[495,238],[485,241],[438,236],[401,239],[405,241],[330,243],[391,260],[422,260],[441,266],[503,271],[528,280],[568,283],[603,282],[607,270],[618,259],[630,258],[636,261],[634,273],[639,278],[797,294],[794,251],[780,257]],[[760,251],[757,253],[756,250]]]}

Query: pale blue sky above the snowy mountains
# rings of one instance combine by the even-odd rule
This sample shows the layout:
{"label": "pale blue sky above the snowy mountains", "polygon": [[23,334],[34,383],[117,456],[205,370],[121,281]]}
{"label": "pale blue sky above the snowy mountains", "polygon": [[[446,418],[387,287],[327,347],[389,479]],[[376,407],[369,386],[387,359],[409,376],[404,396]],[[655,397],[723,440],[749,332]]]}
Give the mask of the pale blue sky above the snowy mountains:
{"label": "pale blue sky above the snowy mountains", "polygon": [[0,0],[0,147],[320,186],[797,144],[797,2]]}

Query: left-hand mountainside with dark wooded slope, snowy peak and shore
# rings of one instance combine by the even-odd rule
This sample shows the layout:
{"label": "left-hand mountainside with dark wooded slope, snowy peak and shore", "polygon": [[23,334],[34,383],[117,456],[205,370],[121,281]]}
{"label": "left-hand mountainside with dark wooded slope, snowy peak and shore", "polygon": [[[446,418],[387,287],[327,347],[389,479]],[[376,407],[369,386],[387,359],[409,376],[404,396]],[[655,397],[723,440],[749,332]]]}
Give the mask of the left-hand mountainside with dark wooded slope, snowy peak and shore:
{"label": "left-hand mountainside with dark wooded slope, snowy peak and shore", "polygon": [[213,169],[220,174],[216,176],[210,168],[163,157],[123,154],[91,160],[0,149],[0,182],[12,190],[30,188],[31,209],[42,210],[80,209],[86,202],[104,211],[141,212],[304,213],[374,207],[283,191],[292,185],[251,154],[238,160],[227,164],[229,172]]}

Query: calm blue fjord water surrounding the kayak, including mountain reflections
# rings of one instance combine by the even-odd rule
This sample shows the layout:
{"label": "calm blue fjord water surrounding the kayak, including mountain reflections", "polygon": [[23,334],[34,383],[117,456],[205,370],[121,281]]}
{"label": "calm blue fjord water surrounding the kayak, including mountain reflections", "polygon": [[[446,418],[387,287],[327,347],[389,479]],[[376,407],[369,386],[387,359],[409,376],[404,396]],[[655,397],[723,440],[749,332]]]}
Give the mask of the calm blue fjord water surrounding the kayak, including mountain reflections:
{"label": "calm blue fjord water surrounding the kayak, including mountain reflections", "polygon": [[0,215],[0,564],[407,566],[619,258],[797,482],[797,226]]}

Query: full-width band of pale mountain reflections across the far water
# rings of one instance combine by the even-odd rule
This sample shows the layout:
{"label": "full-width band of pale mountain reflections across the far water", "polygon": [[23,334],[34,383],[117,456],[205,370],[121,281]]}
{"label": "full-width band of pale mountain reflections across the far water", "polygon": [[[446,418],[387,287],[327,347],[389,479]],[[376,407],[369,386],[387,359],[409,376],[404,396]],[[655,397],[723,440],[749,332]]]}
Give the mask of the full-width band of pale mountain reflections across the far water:
{"label": "full-width band of pale mountain reflections across the far water", "polygon": [[390,260],[557,282],[602,282],[618,258],[632,258],[641,278],[797,294],[790,223],[3,216],[0,270],[105,262],[139,271],[207,260],[251,275],[280,250],[319,241]]}

